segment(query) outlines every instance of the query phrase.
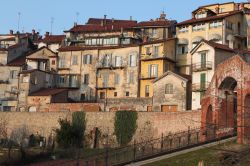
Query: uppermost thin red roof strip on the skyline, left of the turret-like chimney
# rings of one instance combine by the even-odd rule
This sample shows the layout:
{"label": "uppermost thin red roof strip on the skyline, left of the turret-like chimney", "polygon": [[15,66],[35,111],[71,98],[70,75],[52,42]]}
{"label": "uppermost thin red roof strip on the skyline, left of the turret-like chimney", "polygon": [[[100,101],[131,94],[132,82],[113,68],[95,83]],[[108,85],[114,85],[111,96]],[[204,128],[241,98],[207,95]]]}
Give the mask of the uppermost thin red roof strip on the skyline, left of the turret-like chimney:
{"label": "uppermost thin red roof strip on the skyline, left of the turret-like chimney", "polygon": [[135,20],[116,20],[116,19],[104,19],[104,18],[89,18],[87,24],[99,24],[101,25],[102,22],[105,21],[106,24],[112,24],[112,23],[137,23]]}

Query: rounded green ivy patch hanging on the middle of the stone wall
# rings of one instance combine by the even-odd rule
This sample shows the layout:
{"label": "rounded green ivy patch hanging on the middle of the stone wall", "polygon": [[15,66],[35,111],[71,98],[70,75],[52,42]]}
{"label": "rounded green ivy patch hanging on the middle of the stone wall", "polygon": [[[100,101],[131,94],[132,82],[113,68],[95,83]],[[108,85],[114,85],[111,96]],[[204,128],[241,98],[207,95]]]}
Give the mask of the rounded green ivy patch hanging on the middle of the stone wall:
{"label": "rounded green ivy patch hanging on the middle of the stone wall", "polygon": [[133,138],[137,129],[138,113],[134,111],[118,111],[115,114],[115,135],[117,142],[124,146]]}

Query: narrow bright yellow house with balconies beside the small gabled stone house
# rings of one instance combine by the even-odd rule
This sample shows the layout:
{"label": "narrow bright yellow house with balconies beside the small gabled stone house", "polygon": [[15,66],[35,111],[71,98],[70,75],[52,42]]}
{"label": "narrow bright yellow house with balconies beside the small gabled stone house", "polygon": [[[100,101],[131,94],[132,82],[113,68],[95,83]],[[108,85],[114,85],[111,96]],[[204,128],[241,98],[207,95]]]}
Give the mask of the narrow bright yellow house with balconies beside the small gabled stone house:
{"label": "narrow bright yellow house with balconies beside the small gabled stone house", "polygon": [[153,96],[153,80],[175,69],[176,40],[164,39],[141,44],[140,97]]}

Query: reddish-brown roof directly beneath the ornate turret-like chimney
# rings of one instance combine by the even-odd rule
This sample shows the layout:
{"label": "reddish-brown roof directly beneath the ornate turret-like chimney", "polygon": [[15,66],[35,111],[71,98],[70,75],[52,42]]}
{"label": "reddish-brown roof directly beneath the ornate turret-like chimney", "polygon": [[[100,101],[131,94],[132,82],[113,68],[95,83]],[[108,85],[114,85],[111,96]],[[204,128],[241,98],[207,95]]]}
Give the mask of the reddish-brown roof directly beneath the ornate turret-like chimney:
{"label": "reddish-brown roof directly beneath the ornate turret-like chimney", "polygon": [[175,20],[154,20],[139,22],[135,27],[169,27],[176,24]]}

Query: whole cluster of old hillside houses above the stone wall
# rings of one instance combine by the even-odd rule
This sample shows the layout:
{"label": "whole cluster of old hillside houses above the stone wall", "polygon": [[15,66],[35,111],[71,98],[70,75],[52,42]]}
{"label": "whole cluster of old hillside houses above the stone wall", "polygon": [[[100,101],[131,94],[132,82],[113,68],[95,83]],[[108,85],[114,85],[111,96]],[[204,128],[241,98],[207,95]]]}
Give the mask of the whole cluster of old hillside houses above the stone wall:
{"label": "whole cluster of old hillside houses above the stone wall", "polygon": [[249,12],[250,3],[229,2],[179,23],[162,12],[90,18],[63,35],[10,31],[0,35],[0,110],[200,110],[217,65],[250,53]]}

